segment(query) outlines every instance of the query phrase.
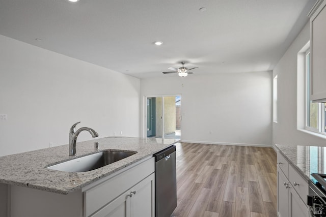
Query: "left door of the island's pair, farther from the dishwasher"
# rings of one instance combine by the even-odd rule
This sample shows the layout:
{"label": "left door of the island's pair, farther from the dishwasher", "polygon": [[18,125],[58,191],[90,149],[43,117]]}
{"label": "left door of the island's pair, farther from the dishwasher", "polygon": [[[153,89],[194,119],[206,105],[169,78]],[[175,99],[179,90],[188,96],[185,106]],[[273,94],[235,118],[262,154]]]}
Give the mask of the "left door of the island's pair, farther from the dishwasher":
{"label": "left door of the island's pair, farther from the dishwasher", "polygon": [[124,192],[118,198],[91,215],[92,217],[130,217],[129,191]]}

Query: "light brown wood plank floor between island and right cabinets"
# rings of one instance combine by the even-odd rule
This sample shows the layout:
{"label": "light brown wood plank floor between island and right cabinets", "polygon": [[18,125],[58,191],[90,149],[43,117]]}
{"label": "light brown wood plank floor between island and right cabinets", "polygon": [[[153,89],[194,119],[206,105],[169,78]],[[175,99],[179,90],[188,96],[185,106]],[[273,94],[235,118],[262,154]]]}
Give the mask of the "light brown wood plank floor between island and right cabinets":
{"label": "light brown wood plank floor between island and right cabinets", "polygon": [[273,148],[178,143],[172,216],[276,217]]}

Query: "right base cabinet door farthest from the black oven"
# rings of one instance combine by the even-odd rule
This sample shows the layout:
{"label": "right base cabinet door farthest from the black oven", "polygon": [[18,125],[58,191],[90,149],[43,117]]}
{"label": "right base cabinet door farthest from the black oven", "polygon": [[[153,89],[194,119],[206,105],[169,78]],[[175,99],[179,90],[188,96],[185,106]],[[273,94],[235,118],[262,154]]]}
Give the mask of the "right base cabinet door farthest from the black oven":
{"label": "right base cabinet door farthest from the black oven", "polygon": [[284,183],[289,183],[280,167],[277,167],[277,212],[279,217],[289,217],[289,190]]}

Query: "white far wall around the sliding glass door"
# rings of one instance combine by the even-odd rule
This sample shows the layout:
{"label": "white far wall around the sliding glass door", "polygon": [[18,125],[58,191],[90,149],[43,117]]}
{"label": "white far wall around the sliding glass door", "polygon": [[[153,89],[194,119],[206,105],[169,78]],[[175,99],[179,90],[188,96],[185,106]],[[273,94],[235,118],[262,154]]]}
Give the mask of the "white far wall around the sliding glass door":
{"label": "white far wall around the sliding glass door", "polygon": [[142,79],[141,96],[181,95],[184,142],[271,145],[271,84],[271,72],[174,75]]}

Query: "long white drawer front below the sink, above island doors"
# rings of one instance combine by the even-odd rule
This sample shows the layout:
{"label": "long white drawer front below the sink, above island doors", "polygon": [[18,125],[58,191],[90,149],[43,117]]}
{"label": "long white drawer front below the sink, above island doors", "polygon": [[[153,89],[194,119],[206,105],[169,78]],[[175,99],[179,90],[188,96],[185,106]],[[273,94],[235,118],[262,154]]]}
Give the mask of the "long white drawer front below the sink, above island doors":
{"label": "long white drawer front below the sink, above island doors", "polygon": [[94,213],[153,173],[154,163],[154,158],[151,158],[84,192],[84,216]]}

